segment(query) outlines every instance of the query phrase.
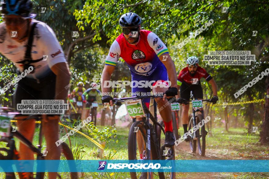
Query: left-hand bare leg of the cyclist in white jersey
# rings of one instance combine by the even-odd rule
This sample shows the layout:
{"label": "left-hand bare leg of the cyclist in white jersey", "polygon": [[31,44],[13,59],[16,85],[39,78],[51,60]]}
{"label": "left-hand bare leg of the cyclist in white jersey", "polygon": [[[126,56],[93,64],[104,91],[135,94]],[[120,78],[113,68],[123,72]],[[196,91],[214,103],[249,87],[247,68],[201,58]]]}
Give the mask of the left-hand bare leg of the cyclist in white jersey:
{"label": "left-hand bare leg of the cyclist in white jersey", "polygon": [[[19,128],[18,131],[29,141],[33,141],[33,136],[35,132],[35,120],[34,119],[26,119],[25,116],[15,117],[15,119],[20,119],[17,121],[17,127]],[[19,147],[20,159],[21,160],[33,160],[34,159],[34,152],[31,151],[26,145],[20,142]],[[25,173],[27,178],[33,175],[32,172]]]}

